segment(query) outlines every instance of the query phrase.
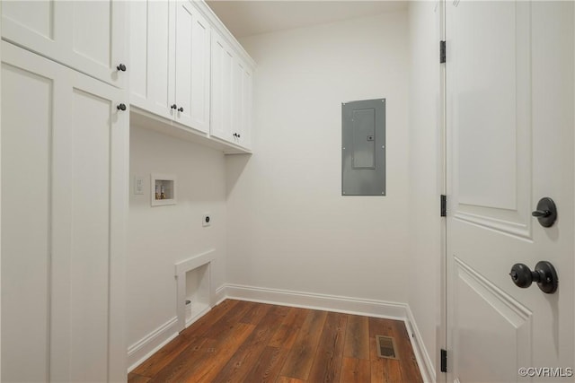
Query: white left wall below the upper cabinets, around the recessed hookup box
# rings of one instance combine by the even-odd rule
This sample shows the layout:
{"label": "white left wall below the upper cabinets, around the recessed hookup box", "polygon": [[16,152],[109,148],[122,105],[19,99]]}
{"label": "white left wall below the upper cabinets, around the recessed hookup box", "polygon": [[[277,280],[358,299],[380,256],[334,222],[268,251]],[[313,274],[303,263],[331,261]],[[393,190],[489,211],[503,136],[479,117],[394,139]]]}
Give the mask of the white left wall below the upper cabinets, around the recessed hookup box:
{"label": "white left wall below the upper cabinets, around the recessed hookup box", "polygon": [[[130,127],[130,196],[127,256],[128,347],[176,317],[174,264],[215,248],[212,285],[225,280],[226,178],[224,154],[198,144]],[[150,174],[177,177],[177,205],[150,206]],[[134,195],[134,176],[145,179],[145,194]],[[202,227],[202,214],[212,224]],[[173,335],[168,328],[148,339],[137,356]]]}

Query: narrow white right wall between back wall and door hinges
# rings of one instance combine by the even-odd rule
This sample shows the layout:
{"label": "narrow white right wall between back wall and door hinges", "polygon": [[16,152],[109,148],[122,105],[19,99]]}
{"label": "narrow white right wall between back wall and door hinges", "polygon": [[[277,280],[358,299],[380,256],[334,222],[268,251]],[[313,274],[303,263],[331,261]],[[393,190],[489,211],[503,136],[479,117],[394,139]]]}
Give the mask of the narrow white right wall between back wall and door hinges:
{"label": "narrow white right wall between back wall and door hinges", "polygon": [[[439,9],[435,2],[412,2],[409,103],[409,264],[408,303],[430,363],[438,372],[442,265],[442,129],[439,96]],[[433,377],[435,379],[435,377]]]}

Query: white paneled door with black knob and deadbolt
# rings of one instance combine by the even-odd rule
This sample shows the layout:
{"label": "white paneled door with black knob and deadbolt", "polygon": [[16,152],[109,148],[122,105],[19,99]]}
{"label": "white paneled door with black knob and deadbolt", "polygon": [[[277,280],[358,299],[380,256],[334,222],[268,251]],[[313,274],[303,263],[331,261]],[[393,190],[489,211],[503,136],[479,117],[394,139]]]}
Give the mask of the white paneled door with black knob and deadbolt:
{"label": "white paneled door with black knob and deadbolt", "polygon": [[[446,7],[448,381],[572,381],[573,3]],[[557,292],[513,283],[542,260]]]}

